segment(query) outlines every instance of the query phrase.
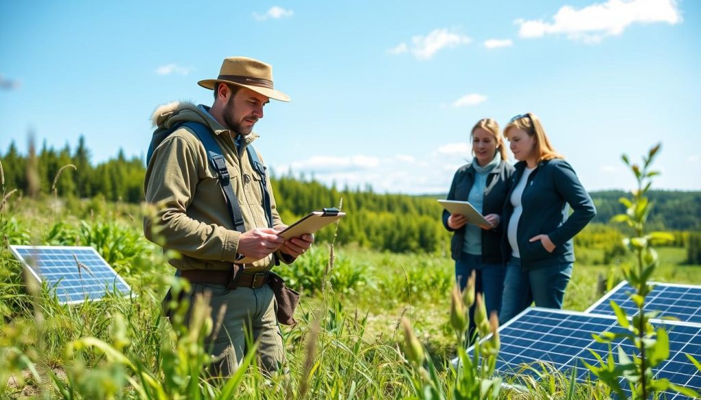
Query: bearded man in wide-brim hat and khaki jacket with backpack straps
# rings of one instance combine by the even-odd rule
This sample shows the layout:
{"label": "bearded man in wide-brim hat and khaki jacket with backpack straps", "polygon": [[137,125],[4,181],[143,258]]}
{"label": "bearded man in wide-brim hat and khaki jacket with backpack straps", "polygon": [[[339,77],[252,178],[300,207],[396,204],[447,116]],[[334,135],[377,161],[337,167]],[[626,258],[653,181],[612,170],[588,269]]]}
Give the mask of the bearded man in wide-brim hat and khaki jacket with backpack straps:
{"label": "bearded man in wide-brim hat and khaki jacket with backpack straps", "polygon": [[290,97],[273,88],[269,64],[247,57],[224,59],[217,78],[198,83],[214,90],[211,107],[173,102],[154,113],[145,189],[157,212],[144,221],[144,234],[179,253],[169,262],[191,282],[189,296],[210,292],[215,324],[224,310],[217,337],[205,341],[217,359],[214,372],[233,373],[246,352],[245,332],[259,341],[261,367],[277,371],[285,359],[278,319],[294,323],[296,294],[271,268],[294,261],[313,236],[278,236],[285,225],[251,143],[269,99]]}

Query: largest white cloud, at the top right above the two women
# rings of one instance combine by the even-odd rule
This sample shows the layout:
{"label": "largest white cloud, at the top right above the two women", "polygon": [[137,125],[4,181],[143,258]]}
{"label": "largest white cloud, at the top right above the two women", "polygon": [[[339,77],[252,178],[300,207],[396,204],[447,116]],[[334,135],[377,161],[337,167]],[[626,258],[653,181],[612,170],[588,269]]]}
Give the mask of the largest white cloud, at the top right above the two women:
{"label": "largest white cloud, at the top right above the two women", "polygon": [[519,36],[539,38],[545,34],[564,34],[569,39],[598,43],[604,36],[616,36],[634,23],[681,22],[676,0],[608,0],[576,9],[563,6],[552,18],[543,20],[516,20]]}

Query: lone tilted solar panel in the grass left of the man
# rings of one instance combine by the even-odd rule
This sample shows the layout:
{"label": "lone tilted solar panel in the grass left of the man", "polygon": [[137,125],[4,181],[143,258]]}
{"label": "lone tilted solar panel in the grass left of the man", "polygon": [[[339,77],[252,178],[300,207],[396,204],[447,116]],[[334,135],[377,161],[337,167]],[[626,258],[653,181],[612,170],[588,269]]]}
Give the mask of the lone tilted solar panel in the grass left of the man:
{"label": "lone tilted solar panel in the grass left of the man", "polygon": [[131,289],[93,247],[10,246],[39,282],[46,282],[60,303],[97,300],[107,291]]}

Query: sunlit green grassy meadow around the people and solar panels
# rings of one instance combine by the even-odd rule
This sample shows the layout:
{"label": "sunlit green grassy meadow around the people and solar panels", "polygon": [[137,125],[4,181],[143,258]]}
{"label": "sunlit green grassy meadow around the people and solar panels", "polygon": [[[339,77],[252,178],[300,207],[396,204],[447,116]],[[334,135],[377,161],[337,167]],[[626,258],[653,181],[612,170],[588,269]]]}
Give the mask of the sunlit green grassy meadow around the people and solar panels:
{"label": "sunlit green grassy meadow around the people and solar panels", "polygon": [[[0,397],[10,399],[405,399],[421,394],[407,357],[402,317],[411,322],[446,397],[458,340],[451,326],[453,261],[444,251],[395,254],[358,245],[318,242],[293,265],[278,267],[303,297],[299,323],[283,327],[288,374],[259,373],[249,357],[239,373],[219,381],[202,375],[207,333],[161,316],[161,298],[174,270],[144,239],[137,205],[93,200],[9,198],[0,213]],[[333,235],[328,235],[333,237]],[[89,245],[125,278],[132,297],[59,305],[47,288],[22,277],[8,244]],[[580,261],[564,307],[585,310],[611,287],[618,256],[605,264],[601,246],[578,247]],[[658,249],[651,280],[701,282],[701,265],[684,265],[686,250]],[[601,281],[604,277],[604,281]],[[601,282],[600,282],[601,281]],[[180,282],[182,283],[182,282]],[[175,284],[180,284],[175,282]],[[204,307],[204,305],[192,305]],[[409,359],[408,359],[409,358]],[[251,365],[252,364],[252,365]],[[567,376],[505,378],[524,390],[501,399],[606,399],[599,382],[571,385]]]}

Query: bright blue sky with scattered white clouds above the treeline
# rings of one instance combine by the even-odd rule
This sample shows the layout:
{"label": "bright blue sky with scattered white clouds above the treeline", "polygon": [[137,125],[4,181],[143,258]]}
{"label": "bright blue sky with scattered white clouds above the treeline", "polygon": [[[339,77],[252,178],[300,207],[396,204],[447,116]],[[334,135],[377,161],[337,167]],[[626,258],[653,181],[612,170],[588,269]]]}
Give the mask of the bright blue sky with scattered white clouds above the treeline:
{"label": "bright blue sky with scattered white clouds above the treeline", "polygon": [[273,64],[257,149],[281,174],[447,192],[479,118],[540,116],[590,190],[701,190],[701,1],[0,0],[0,153],[27,132],[86,137],[94,163],[143,156],[151,113],[211,104],[222,59]]}

